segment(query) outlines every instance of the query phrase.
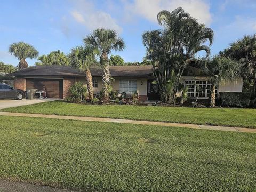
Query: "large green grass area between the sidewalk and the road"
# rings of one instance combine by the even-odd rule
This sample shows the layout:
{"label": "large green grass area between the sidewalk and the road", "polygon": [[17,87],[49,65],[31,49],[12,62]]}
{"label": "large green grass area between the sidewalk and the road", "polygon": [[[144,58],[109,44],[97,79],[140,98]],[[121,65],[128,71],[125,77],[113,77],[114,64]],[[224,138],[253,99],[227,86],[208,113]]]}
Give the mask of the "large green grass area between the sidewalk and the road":
{"label": "large green grass area between the sidewalk and the road", "polygon": [[0,178],[83,191],[256,190],[256,134],[28,117],[0,122]]}

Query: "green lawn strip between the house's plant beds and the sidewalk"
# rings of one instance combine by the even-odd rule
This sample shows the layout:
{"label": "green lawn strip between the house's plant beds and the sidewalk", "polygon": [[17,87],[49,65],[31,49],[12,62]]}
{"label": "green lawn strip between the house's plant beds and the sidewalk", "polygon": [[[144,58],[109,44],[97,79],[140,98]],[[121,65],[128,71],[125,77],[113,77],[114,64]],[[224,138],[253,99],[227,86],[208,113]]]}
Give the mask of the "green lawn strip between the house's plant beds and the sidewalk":
{"label": "green lawn strip between the house's plant beds and the sidewalk", "polygon": [[256,109],[81,105],[52,101],[2,111],[256,128]]}

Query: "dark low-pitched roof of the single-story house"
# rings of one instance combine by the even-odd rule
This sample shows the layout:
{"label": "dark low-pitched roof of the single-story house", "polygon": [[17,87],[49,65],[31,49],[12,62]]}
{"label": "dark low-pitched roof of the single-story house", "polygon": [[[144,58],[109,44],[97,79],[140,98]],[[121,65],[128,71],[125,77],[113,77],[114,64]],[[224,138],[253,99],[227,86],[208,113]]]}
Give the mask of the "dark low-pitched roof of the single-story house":
{"label": "dark low-pitched roof of the single-story house", "polygon": [[[109,66],[113,77],[149,77],[153,73],[151,66]],[[102,76],[103,71],[97,66],[91,67],[92,76]],[[85,76],[84,73],[70,66],[35,66],[9,73],[10,76]]]}

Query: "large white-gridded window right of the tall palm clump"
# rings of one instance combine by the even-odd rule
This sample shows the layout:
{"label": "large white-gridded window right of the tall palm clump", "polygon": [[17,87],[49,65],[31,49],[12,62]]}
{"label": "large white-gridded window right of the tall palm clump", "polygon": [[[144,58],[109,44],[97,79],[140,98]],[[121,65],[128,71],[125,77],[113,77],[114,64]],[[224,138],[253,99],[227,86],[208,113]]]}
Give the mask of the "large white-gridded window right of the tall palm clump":
{"label": "large white-gridded window right of the tall palm clump", "polygon": [[[201,80],[185,80],[185,86],[188,86],[188,97],[196,98],[209,98],[211,93],[211,81]],[[218,93],[218,87],[216,87],[216,94]]]}

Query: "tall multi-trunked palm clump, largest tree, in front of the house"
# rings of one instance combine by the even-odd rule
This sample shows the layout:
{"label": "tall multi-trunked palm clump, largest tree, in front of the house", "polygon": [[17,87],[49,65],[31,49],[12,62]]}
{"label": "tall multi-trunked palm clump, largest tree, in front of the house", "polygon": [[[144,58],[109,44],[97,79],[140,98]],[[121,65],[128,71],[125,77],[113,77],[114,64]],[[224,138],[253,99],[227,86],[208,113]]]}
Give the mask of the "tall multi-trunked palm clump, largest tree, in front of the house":
{"label": "tall multi-trunked palm clump, largest tree, in front of the house", "polygon": [[[157,19],[163,29],[146,31],[142,35],[147,51],[145,58],[153,65],[161,99],[174,104],[180,78],[190,63],[196,60],[197,52],[205,51],[206,57],[210,55],[213,31],[198,23],[181,7],[172,12],[159,12]],[[205,42],[209,42],[209,45]],[[169,85],[172,70],[175,81]]]}

